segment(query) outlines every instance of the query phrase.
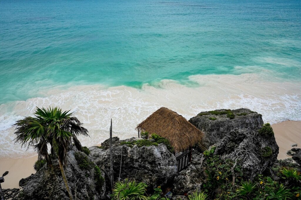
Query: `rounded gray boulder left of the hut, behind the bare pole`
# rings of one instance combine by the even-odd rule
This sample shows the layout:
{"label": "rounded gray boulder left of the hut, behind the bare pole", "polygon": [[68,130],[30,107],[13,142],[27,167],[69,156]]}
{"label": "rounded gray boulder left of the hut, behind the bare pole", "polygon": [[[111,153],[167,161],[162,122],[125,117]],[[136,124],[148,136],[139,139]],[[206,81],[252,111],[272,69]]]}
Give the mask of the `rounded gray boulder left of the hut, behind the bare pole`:
{"label": "rounded gray boulder left of the hut, behind the bare pole", "polygon": [[[119,141],[113,145],[114,181],[119,179],[120,161],[122,154],[120,180],[134,178],[142,181],[150,188],[166,184],[177,173],[175,156],[164,144],[158,146],[119,145],[120,142],[134,141],[135,138]],[[106,140],[107,141],[107,140]],[[106,142],[105,141],[105,142]],[[91,147],[91,157],[99,168],[110,172],[110,151]]]}

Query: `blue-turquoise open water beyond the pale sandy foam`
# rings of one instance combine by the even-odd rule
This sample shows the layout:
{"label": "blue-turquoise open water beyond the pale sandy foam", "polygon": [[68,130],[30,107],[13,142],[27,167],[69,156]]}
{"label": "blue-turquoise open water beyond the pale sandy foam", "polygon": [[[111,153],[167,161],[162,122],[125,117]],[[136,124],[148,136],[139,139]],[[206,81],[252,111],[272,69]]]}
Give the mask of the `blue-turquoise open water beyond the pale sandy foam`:
{"label": "blue-turquoise open water beyond the pale sandy foam", "polygon": [[301,1],[0,1],[0,104],[56,85],[301,80]]}

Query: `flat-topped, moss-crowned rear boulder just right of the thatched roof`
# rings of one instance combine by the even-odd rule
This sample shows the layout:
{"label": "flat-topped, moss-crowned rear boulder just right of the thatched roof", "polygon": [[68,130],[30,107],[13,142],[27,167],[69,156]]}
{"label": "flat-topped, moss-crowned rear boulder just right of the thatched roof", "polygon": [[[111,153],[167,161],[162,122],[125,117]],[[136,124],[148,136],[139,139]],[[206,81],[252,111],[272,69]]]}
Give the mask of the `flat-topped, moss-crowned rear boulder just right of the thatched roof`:
{"label": "flat-topped, moss-crowned rear boulder just right of the thatched roof", "polygon": [[[216,111],[225,112],[227,110]],[[231,112],[235,115],[234,119],[228,118],[227,114],[213,115],[209,112],[200,112],[189,120],[191,124],[205,133],[200,145],[208,149],[209,146],[219,142],[224,136],[228,135],[231,130],[256,130],[263,125],[262,117],[257,112],[245,108],[231,110]],[[207,113],[209,115],[202,115]],[[209,117],[216,118],[216,120],[210,120]]]}

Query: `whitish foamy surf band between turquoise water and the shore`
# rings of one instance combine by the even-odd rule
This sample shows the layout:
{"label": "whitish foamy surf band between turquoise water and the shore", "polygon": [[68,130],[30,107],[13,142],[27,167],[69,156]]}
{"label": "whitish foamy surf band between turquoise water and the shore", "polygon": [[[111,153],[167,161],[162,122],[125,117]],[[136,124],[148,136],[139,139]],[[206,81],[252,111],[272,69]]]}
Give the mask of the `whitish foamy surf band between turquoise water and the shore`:
{"label": "whitish foamy surf band between turquoise water and the shore", "polygon": [[[110,119],[113,136],[126,139],[138,136],[135,127],[152,112],[165,106],[186,119],[201,111],[249,108],[262,114],[264,122],[301,120],[300,82],[272,82],[259,74],[196,75],[189,80],[193,87],[173,80],[161,80],[155,86],[144,84],[141,89],[102,85],[74,86],[68,90],[48,90],[47,97],[14,101],[0,106],[0,151],[2,157],[29,157],[30,148],[14,145],[12,125],[23,116],[33,115],[36,106],[60,106],[71,110],[90,137],[79,139],[92,146],[109,137]],[[196,86],[198,85],[198,86]]]}

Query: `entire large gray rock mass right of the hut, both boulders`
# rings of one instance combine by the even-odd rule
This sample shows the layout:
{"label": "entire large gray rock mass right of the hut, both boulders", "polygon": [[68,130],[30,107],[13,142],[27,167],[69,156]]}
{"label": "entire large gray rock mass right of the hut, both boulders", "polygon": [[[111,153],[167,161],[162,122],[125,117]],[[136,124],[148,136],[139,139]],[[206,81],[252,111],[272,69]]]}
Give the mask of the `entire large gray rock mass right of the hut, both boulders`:
{"label": "entire large gray rock mass right of the hut, both boulders", "polygon": [[[275,163],[279,147],[274,135],[258,133],[263,125],[260,114],[249,109],[236,109],[230,112],[235,115],[233,119],[228,118],[226,114],[199,114],[189,121],[205,133],[201,145],[206,148],[216,146],[215,154],[237,160],[244,173],[252,179]],[[210,120],[209,117],[215,117],[216,120]]]}

